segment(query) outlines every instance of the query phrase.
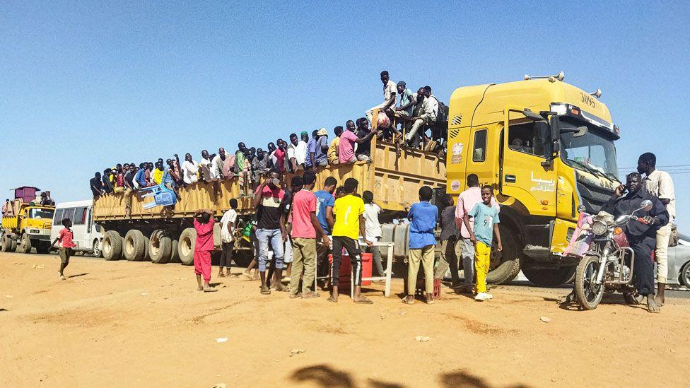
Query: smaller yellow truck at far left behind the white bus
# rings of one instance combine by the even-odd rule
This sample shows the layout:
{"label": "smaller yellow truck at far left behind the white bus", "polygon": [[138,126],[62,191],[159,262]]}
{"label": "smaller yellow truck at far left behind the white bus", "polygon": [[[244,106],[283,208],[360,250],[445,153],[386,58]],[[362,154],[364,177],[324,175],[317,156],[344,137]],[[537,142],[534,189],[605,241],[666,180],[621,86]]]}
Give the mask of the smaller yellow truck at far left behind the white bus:
{"label": "smaller yellow truck at far left behind the white bus", "polygon": [[[15,190],[21,189],[36,188],[19,187]],[[55,206],[40,206],[37,201],[27,201],[30,195],[16,196],[2,217],[1,252],[30,253],[35,247],[38,253],[48,253]]]}

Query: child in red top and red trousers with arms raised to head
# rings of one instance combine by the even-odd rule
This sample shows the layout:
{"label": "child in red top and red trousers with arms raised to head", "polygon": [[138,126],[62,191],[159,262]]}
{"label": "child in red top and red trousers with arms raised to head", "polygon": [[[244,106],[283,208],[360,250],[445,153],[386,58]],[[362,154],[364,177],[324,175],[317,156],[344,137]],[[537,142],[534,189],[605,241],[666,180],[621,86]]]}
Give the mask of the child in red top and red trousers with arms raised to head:
{"label": "child in red top and red trousers with arms raised to head", "polygon": [[[194,274],[197,274],[197,290],[213,293],[211,288],[211,251],[214,250],[214,212],[203,209],[194,213],[194,230],[197,230],[197,242],[194,244]],[[204,286],[201,286],[201,275],[204,275]]]}

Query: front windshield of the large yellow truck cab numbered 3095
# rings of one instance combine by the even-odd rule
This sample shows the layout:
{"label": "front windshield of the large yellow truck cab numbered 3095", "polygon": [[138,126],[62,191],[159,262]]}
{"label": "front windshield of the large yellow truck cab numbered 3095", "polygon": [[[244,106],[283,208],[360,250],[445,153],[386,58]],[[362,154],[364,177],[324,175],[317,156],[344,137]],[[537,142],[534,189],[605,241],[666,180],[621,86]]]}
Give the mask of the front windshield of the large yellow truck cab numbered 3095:
{"label": "front windshield of the large yellow truck cab numbered 3095", "polygon": [[[583,123],[561,119],[561,129],[576,129]],[[587,126],[585,136],[573,137],[572,132],[561,134],[561,158],[571,167],[588,170],[593,174],[618,178],[614,141],[598,128]]]}

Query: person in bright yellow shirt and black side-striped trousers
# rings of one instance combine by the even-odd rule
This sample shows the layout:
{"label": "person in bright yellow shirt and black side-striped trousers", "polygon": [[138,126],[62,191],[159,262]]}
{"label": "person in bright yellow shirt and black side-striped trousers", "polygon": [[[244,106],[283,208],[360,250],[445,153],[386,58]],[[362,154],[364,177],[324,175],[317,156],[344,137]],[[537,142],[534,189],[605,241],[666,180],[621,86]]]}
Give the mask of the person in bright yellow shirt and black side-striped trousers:
{"label": "person in bright yellow shirt and black side-striped trousers", "polygon": [[333,225],[333,265],[331,269],[332,291],[327,300],[329,302],[338,301],[340,264],[343,248],[345,248],[354,269],[354,278],[352,279],[352,285],[355,288],[354,302],[370,305],[372,301],[361,295],[362,249],[359,247],[359,236],[365,236],[366,245],[371,247],[373,243],[366,239],[364,230],[364,201],[354,195],[358,185],[359,182],[356,179],[346,179],[344,184],[346,194],[336,199],[333,206],[335,224]]}

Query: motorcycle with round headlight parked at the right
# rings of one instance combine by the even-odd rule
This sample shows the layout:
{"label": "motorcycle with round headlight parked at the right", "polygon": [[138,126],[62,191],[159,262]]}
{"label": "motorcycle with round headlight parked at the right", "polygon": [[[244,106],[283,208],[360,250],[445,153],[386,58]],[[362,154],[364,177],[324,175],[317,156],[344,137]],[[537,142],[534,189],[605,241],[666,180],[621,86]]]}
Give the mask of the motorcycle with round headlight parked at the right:
{"label": "motorcycle with round headlight parked at the right", "polygon": [[578,236],[580,245],[586,247],[575,271],[575,301],[583,310],[594,310],[604,293],[621,292],[626,303],[637,305],[643,296],[631,284],[635,265],[635,252],[628,244],[624,226],[628,222],[645,223],[636,217],[639,211],[649,211],[652,201],[645,200],[641,208],[629,215],[614,216],[601,211],[585,217]]}

